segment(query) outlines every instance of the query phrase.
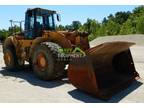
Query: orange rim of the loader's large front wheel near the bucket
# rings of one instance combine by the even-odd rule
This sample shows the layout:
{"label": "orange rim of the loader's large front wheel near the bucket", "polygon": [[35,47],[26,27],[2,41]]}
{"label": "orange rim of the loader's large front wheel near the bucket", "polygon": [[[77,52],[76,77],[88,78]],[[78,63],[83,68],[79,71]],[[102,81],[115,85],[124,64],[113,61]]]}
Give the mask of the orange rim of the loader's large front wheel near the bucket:
{"label": "orange rim of the loader's large front wheel near the bucket", "polygon": [[43,69],[45,69],[48,66],[45,55],[43,53],[38,54],[37,65],[38,67],[43,68]]}

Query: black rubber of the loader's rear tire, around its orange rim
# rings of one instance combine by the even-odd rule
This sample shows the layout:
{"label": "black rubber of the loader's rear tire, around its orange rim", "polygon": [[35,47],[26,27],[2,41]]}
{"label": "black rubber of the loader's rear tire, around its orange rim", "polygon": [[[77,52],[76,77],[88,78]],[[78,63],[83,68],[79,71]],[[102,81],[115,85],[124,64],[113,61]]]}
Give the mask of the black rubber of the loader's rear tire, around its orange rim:
{"label": "black rubber of the loader's rear tire, around its orange rim", "polygon": [[10,71],[18,71],[18,70],[22,69],[24,64],[22,64],[22,65],[19,64],[14,46],[9,46],[3,50],[4,55],[7,52],[10,53],[10,55],[11,55],[10,56],[11,62],[9,64],[7,64],[5,59],[4,59],[6,69],[8,69]]}

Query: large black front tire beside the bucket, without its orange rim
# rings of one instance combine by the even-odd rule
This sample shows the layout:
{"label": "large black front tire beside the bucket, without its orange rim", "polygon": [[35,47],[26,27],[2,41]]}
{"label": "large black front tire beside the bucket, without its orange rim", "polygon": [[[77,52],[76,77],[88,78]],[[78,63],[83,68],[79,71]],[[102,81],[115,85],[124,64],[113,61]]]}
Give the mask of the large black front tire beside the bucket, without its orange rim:
{"label": "large black front tire beside the bucket, without its orange rim", "polygon": [[[65,63],[59,61],[58,54],[59,48],[58,44],[52,42],[43,42],[36,46],[33,56],[32,56],[32,67],[33,71],[42,80],[55,80],[61,78],[65,73]],[[37,57],[38,54],[42,53],[45,56],[46,68],[42,69],[38,66]]]}

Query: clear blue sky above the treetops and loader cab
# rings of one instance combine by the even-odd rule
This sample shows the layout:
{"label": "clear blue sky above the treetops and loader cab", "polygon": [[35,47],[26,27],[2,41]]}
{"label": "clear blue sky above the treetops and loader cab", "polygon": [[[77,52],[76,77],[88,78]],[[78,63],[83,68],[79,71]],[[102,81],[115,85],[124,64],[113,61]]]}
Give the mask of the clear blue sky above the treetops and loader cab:
{"label": "clear blue sky above the treetops and loader cab", "polygon": [[118,11],[132,11],[135,5],[93,5],[93,6],[31,6],[31,5],[15,5],[2,6],[0,5],[0,29],[7,29],[10,26],[9,20],[24,20],[25,11],[27,8],[41,7],[50,10],[56,10],[61,14],[61,22],[58,24],[71,24],[72,21],[86,22],[87,18],[96,19],[99,22],[109,14],[114,14]]}

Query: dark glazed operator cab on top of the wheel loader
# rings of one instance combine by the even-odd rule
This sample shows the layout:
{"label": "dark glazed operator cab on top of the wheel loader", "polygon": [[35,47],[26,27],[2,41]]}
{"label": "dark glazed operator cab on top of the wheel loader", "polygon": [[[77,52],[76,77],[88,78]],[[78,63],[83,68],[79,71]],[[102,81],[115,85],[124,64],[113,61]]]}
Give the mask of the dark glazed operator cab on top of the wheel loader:
{"label": "dark glazed operator cab on top of the wheel loader", "polygon": [[[55,15],[56,11],[41,8],[28,9],[25,15],[25,38],[39,37],[43,30],[56,30]],[[57,20],[59,21],[59,19],[57,15]]]}

